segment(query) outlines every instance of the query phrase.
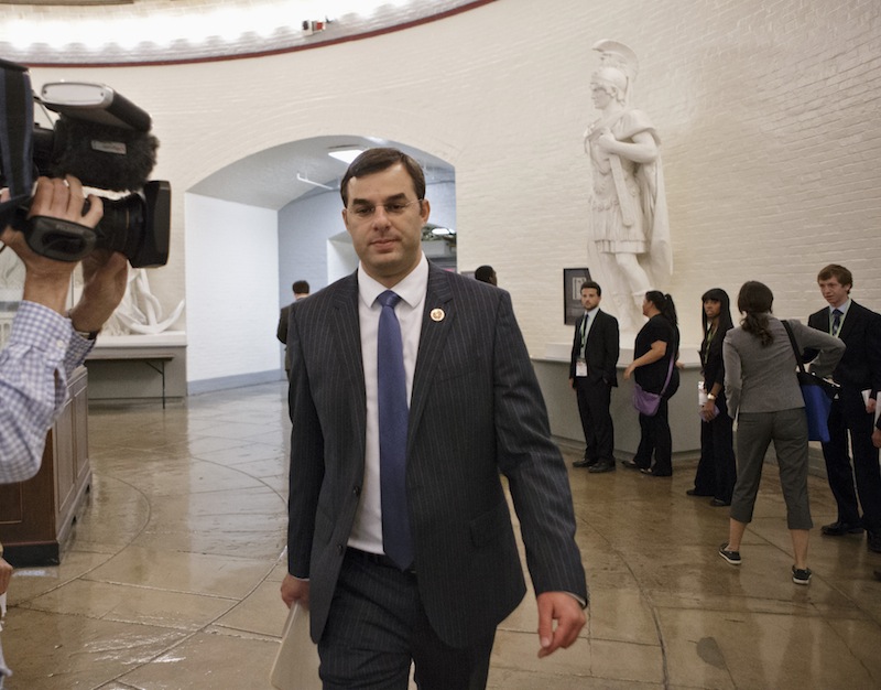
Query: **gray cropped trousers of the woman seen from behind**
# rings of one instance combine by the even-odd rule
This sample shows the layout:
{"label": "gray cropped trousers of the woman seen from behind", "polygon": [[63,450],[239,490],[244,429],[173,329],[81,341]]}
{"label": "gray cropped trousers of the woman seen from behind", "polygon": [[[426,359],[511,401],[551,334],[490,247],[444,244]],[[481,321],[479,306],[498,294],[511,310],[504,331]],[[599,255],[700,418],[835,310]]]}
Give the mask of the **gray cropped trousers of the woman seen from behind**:
{"label": "gray cropped trousers of the woman seen from behind", "polygon": [[776,412],[740,412],[737,422],[737,484],[731,517],[752,521],[768,446],[774,442],[780,487],[786,502],[786,526],[811,529],[807,499],[807,417],[804,408]]}

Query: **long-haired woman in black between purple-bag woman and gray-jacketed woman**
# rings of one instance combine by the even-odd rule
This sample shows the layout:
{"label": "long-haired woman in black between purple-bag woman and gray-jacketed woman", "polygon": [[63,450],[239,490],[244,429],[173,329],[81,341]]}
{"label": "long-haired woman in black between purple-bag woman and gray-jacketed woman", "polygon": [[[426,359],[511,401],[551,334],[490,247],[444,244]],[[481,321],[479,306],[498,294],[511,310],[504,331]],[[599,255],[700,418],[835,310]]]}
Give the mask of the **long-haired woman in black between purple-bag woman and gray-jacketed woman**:
{"label": "long-haired woman in black between purple-bag woman and gray-jacketed woman", "polygon": [[721,288],[707,290],[700,298],[704,339],[700,343],[700,373],[706,400],[700,407],[700,461],[695,487],[689,496],[713,496],[711,506],[730,506],[737,479],[735,435],[725,397],[722,342],[735,327],[728,293]]}

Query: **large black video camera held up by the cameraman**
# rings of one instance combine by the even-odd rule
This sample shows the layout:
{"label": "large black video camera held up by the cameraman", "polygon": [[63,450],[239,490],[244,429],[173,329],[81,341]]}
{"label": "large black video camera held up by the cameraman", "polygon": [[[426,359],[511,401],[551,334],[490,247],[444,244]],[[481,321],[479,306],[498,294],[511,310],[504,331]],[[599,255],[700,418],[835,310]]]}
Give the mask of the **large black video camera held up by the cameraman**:
{"label": "large black video camera held up by the cameraman", "polygon": [[[34,125],[33,104],[58,114],[51,129]],[[26,67],[0,60],[0,227],[24,233],[35,252],[78,261],[104,248],[120,251],[133,268],[168,260],[171,185],[148,181],[159,140],[144,110],[102,84],[56,82],[31,90]],[[37,175],[74,175],[84,186],[130,192],[101,197],[104,216],[89,227],[51,218],[28,218]]]}

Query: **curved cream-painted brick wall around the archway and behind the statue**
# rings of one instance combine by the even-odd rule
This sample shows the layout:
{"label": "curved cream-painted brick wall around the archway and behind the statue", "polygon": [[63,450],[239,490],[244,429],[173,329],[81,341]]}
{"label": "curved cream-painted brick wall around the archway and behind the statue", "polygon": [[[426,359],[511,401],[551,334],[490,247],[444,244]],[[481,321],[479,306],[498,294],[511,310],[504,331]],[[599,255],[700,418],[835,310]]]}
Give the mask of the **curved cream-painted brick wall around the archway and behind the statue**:
{"label": "curved cream-painted brick wall around the archway and behind the statue", "polygon": [[[588,82],[599,39],[641,58],[634,103],[663,139],[685,343],[697,341],[707,288],[733,294],[764,280],[779,314],[805,316],[823,303],[815,276],[831,261],[855,272],[856,299],[881,309],[877,0],[499,0],[317,50],[75,76],[107,82],[154,116],[154,176],[176,194],[174,255],[151,279],[165,304],[184,297],[184,251],[200,231],[183,213],[194,182],[292,140],[377,136],[455,165],[459,266],[497,268],[541,356],[548,341],[569,338],[562,269],[597,265],[581,132],[596,117]],[[36,69],[35,82],[64,72]],[[207,306],[188,299],[191,327],[210,321],[191,313]],[[229,322],[241,316],[227,306]],[[240,355],[207,363],[193,348],[191,376]]]}

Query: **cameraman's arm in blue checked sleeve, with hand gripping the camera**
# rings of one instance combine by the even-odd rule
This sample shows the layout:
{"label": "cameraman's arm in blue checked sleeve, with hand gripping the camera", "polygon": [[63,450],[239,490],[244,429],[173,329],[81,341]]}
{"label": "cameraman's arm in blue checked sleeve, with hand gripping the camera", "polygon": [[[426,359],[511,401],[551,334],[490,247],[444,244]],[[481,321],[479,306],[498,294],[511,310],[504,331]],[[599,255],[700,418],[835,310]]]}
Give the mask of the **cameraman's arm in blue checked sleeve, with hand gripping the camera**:
{"label": "cameraman's arm in blue checked sleeve, with hand gripping the camera", "polygon": [[[83,188],[76,179],[65,183],[41,177],[30,213],[94,227],[101,217],[101,202],[90,201],[84,215]],[[62,314],[76,263],[34,254],[24,236],[9,227],[0,240],[25,268],[23,301],[0,353],[0,483],[9,483],[26,479],[40,468],[46,431],[67,395],[65,358],[73,330]]]}

